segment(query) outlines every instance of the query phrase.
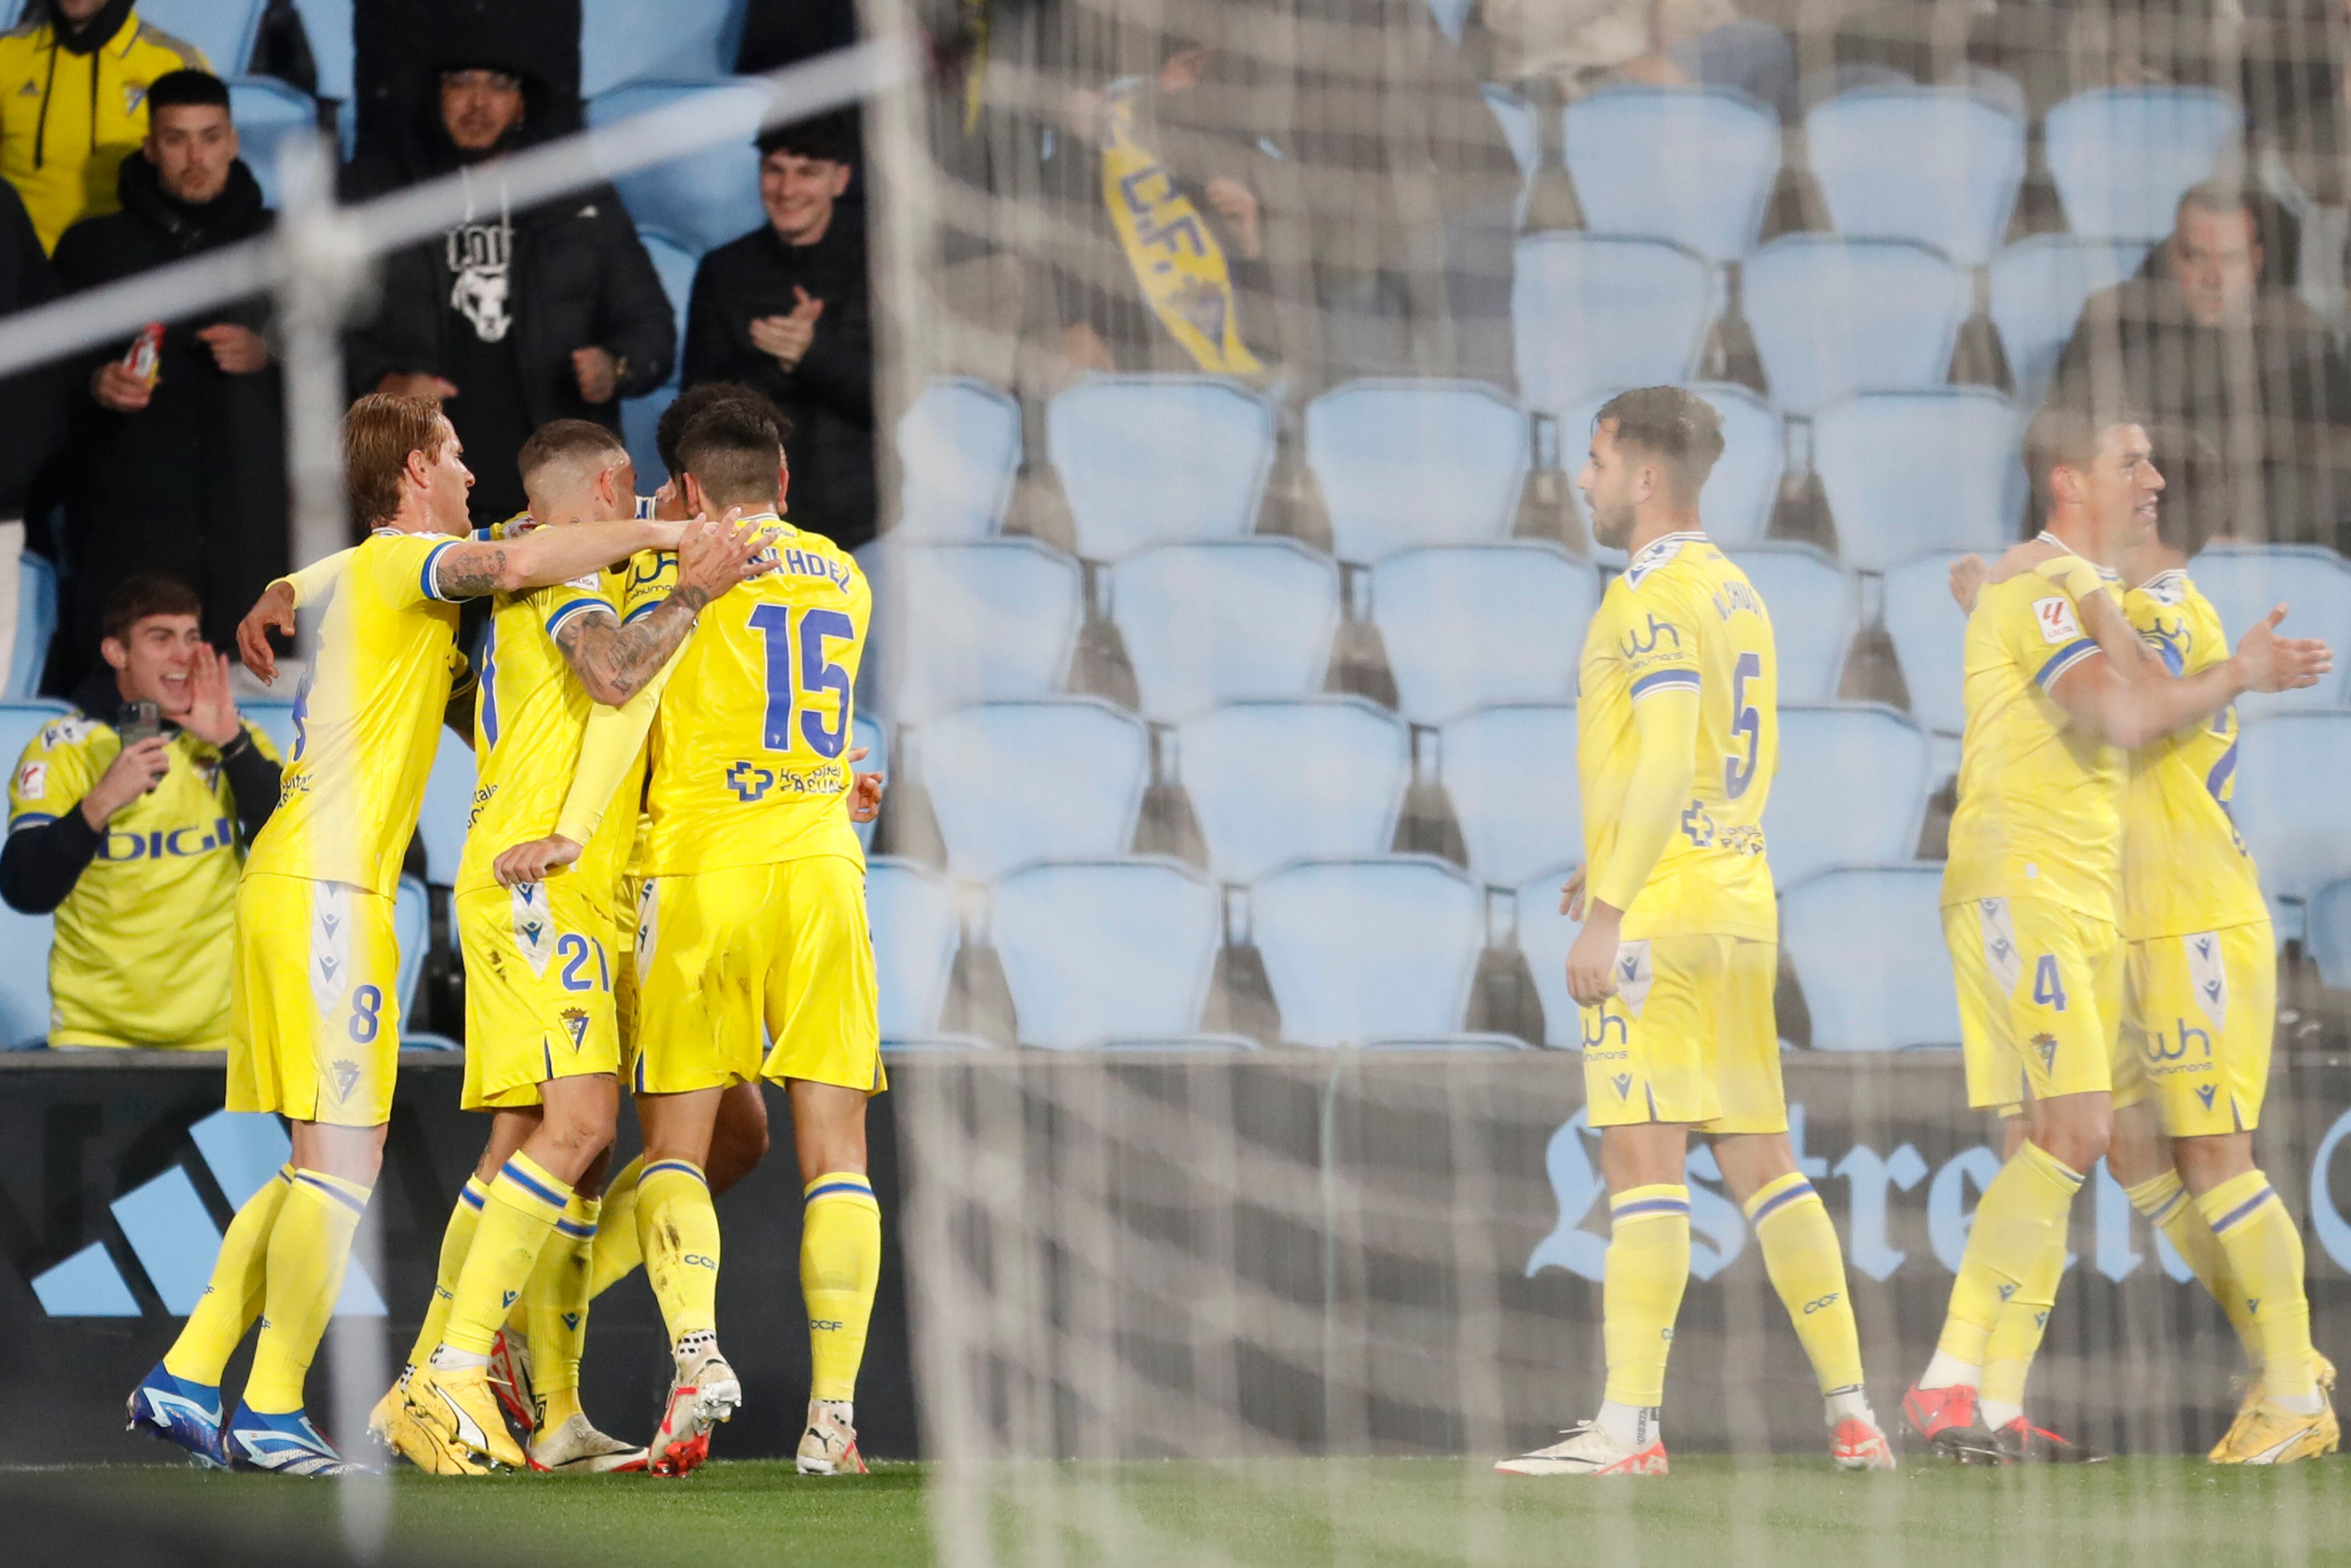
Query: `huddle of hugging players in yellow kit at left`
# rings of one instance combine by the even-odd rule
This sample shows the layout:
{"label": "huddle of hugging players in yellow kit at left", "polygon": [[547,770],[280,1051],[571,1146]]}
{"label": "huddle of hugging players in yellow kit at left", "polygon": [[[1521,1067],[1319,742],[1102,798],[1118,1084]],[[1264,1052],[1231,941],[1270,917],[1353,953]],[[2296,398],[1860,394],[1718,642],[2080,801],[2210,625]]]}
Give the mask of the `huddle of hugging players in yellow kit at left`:
{"label": "huddle of hugging players in yellow kit at left", "polygon": [[[482,1159],[430,1309],[369,1436],[418,1469],[677,1476],[743,1401],[717,1342],[712,1197],[766,1147],[785,1086],[804,1182],[813,1380],[802,1474],[860,1474],[856,1378],[882,1265],[865,1100],[884,1088],[851,684],[870,592],[783,522],[785,430],[710,383],[663,416],[677,475],[560,418],[520,451],[529,510],[468,524],[473,473],[433,397],[343,421],[364,538],[270,585],[237,630],[317,616],[280,806],[237,886],[228,1110],[277,1112],[292,1159],[235,1215],[212,1281],[129,1396],[200,1465],[343,1474],[306,1373],[376,1182],[400,1048],[393,896],[437,731],[475,750],[456,877],[468,1110]],[[477,656],[461,604],[484,599]],[[642,809],[639,809],[642,802]],[[621,1091],[644,1152],[609,1171]],[[590,1300],[644,1267],[675,1375],[642,1441],[581,1410]],[[252,1375],[221,1375],[259,1321]]]}

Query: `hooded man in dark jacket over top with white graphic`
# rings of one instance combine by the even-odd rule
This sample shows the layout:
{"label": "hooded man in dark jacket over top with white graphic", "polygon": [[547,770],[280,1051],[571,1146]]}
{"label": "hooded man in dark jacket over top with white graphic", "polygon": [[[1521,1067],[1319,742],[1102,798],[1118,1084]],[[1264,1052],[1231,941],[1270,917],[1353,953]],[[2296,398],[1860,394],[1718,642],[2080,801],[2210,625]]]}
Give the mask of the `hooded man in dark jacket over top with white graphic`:
{"label": "hooded man in dark jacket over top with white graphic", "polygon": [[515,212],[505,153],[555,118],[522,68],[461,59],[400,158],[353,165],[353,197],[463,172],[470,212],[390,256],[376,317],[350,334],[357,393],[435,393],[475,473],[473,517],[522,510],[515,454],[552,418],[621,428],[621,400],[670,378],[677,322],[611,186]]}

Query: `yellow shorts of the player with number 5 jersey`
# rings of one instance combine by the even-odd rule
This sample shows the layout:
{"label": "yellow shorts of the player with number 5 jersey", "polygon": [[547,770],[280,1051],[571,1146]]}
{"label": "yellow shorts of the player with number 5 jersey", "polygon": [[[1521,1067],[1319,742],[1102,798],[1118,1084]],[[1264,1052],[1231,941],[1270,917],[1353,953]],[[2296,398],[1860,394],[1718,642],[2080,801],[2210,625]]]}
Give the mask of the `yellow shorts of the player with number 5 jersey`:
{"label": "yellow shorts of the player with number 5 jersey", "polygon": [[1582,1013],[1589,1126],[1784,1133],[1777,943],[1653,936],[1617,947],[1617,994]]}

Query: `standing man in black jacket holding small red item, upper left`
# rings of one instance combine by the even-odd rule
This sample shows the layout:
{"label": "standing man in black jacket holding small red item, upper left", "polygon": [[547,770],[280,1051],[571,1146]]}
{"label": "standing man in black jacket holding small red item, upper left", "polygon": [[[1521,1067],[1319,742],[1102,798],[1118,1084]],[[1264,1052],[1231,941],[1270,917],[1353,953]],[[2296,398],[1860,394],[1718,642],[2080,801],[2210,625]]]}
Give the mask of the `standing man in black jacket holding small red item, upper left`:
{"label": "standing man in black jacket holding small red item, upper left", "polygon": [[[261,186],[237,158],[228,87],[172,71],[148,89],[153,122],[115,176],[122,209],[56,244],[66,289],[94,289],[268,233]],[[99,651],[99,609],[132,571],[169,571],[212,607],[226,646],[237,614],[287,569],[284,397],[270,308],[249,299],[165,322],[153,376],[125,343],[78,362],[66,480],[75,618],[66,682]]]}

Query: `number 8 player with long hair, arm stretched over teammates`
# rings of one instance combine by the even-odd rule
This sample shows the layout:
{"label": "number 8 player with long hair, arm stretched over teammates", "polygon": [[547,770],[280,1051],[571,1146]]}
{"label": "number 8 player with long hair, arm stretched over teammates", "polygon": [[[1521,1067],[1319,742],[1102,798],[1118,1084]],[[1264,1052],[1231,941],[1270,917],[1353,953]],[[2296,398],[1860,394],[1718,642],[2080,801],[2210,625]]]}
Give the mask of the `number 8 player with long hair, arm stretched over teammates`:
{"label": "number 8 player with long hair, arm stretched over teammates", "polygon": [[[237,886],[230,976],[228,1107],[284,1114],[294,1159],[237,1211],[205,1298],[132,1394],[132,1422],[197,1460],[287,1474],[346,1469],[303,1413],[303,1378],[383,1161],[400,1051],[393,893],[463,672],[456,602],[679,538],[677,524],[614,522],[470,541],[473,475],[433,397],[357,400],[343,470],[369,534],[294,705],[280,804]],[[221,1368],[256,1316],[245,1399],[221,1429]]]}

